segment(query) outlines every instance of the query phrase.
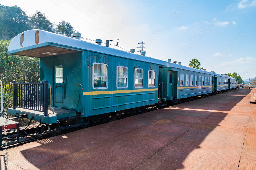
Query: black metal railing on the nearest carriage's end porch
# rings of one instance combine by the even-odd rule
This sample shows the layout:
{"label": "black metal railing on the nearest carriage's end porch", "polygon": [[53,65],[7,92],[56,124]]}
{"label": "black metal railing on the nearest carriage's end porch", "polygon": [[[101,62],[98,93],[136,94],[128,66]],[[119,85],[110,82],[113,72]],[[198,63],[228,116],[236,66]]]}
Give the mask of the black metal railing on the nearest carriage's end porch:
{"label": "black metal railing on the nearest carriage's end porch", "polygon": [[44,112],[48,111],[48,81],[42,83],[16,83],[13,81],[13,109],[24,108]]}

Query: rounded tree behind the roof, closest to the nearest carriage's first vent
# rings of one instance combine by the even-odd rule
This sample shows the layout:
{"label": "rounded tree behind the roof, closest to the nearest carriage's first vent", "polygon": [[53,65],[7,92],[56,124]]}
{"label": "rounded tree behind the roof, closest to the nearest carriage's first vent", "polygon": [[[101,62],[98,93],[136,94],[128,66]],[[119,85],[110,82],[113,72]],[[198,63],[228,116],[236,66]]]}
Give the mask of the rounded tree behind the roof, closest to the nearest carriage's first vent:
{"label": "rounded tree behind the roof, closest to the nearest carriage's first vent", "polygon": [[58,34],[73,37],[74,32],[73,26],[69,22],[61,20],[57,25],[56,33]]}

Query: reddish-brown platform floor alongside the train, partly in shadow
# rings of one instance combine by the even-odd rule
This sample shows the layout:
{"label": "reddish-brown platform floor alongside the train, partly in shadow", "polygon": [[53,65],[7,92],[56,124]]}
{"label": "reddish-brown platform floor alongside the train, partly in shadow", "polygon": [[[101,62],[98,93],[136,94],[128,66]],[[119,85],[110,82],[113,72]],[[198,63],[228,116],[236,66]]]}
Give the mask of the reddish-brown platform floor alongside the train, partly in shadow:
{"label": "reddish-brown platform floor alongside the train, partly in shadow", "polygon": [[256,104],[237,89],[8,149],[1,169],[255,169]]}

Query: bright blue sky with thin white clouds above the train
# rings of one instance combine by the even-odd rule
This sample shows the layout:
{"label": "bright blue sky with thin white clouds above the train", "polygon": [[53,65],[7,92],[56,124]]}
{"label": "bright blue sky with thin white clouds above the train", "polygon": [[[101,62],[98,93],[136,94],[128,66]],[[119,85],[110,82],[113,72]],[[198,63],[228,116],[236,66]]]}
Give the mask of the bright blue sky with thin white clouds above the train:
{"label": "bright blue sky with thin white clouds above the train", "polygon": [[[70,22],[82,37],[119,39],[130,50],[146,43],[146,56],[182,62],[193,58],[206,71],[255,77],[256,0],[5,0],[51,22]],[[111,44],[115,44],[112,42]],[[111,46],[114,47],[114,46]],[[120,48],[119,48],[120,49]],[[137,51],[137,49],[136,49]]]}

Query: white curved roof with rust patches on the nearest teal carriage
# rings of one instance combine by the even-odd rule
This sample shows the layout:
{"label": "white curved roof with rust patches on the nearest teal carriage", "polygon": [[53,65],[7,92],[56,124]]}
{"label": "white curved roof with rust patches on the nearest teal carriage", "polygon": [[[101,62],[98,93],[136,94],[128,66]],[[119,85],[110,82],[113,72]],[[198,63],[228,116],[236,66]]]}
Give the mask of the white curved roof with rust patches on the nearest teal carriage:
{"label": "white curved roof with rust patches on the nearest teal carriage", "polygon": [[89,43],[43,30],[28,30],[18,34],[10,42],[8,54],[46,57],[51,56],[50,54],[54,53],[54,55],[57,55],[83,50],[144,61],[163,67],[167,66],[166,62],[162,60],[113,49],[96,43]]}

